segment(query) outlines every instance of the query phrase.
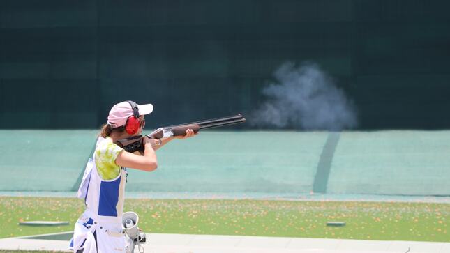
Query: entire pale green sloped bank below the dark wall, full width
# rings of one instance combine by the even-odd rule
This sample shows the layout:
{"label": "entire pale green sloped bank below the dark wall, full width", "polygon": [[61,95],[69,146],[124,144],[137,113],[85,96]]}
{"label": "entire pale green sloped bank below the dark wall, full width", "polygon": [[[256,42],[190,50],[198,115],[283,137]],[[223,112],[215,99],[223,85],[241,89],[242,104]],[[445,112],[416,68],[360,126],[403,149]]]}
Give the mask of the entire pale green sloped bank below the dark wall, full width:
{"label": "entire pale green sloped bank below the dark wall, full width", "polygon": [[[1,130],[1,191],[78,185],[96,130]],[[153,172],[128,170],[128,192],[309,194],[327,132],[204,131],[172,141]],[[450,195],[450,131],[341,132],[327,193]],[[331,160],[332,159],[332,160]],[[76,187],[74,187],[76,188]]]}

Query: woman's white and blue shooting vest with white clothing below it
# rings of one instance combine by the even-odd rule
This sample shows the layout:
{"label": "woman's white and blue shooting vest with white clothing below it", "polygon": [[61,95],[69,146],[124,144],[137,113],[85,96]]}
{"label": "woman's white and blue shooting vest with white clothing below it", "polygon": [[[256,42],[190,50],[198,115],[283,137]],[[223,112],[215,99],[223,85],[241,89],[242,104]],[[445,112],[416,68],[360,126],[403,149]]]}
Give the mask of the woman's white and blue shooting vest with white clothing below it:
{"label": "woman's white and blue shooting vest with white clothing below it", "polygon": [[[99,137],[96,146],[104,138]],[[111,180],[100,177],[96,167],[96,152],[89,158],[77,197],[84,199],[87,209],[75,224],[73,240],[70,249],[78,250],[84,247],[85,252],[91,252],[93,233],[96,234],[95,252],[121,252],[124,245],[122,233],[122,213],[126,184],[126,168],[121,168],[119,176]],[[89,240],[89,238],[91,240]],[[116,238],[116,239],[114,239]],[[93,252],[93,251],[92,251]]]}

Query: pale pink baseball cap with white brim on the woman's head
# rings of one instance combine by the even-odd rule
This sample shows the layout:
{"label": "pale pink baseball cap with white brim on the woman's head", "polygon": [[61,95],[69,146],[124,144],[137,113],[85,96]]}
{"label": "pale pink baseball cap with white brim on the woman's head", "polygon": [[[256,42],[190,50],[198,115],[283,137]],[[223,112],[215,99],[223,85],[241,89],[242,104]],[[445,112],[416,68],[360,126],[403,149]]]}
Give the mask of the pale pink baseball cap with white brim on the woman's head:
{"label": "pale pink baseball cap with white brim on the woman's head", "polygon": [[[137,104],[136,104],[137,105]],[[146,104],[146,105],[137,105],[137,109],[139,110],[139,115],[147,115],[151,112],[153,112],[153,105]],[[119,102],[119,104],[114,105],[111,110],[110,114],[107,118],[108,125],[111,125],[112,128],[119,128],[122,125],[126,124],[126,120],[133,116],[133,108],[130,105],[130,102],[123,101]]]}

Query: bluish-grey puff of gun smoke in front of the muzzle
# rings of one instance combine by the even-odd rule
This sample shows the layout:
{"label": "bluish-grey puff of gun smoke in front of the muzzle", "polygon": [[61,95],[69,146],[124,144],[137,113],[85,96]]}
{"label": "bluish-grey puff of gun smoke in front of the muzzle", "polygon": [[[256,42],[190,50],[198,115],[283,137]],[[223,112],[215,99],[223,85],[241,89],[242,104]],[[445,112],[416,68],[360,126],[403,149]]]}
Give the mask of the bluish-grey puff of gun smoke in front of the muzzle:
{"label": "bluish-grey puff of gun smoke in front of the muzzle", "polygon": [[356,109],[333,79],[313,63],[284,63],[276,83],[262,90],[267,97],[253,114],[258,127],[343,130],[357,126]]}

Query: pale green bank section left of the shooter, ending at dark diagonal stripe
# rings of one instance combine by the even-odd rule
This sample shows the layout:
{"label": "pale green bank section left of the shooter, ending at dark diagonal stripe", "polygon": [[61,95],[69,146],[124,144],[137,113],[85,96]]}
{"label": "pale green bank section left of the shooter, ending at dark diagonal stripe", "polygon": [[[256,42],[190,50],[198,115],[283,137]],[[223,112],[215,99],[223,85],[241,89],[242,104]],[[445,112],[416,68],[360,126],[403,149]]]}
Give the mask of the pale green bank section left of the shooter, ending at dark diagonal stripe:
{"label": "pale green bank section left of the shooter, ending at dark diagonal stripe", "polygon": [[96,135],[94,130],[0,130],[0,190],[70,191]]}

